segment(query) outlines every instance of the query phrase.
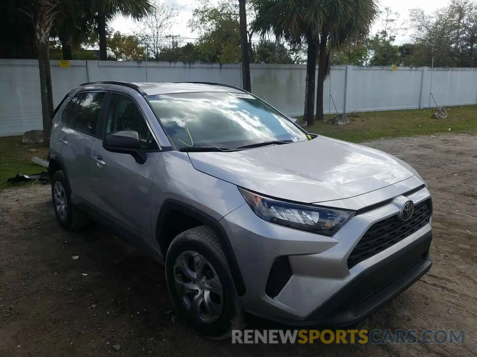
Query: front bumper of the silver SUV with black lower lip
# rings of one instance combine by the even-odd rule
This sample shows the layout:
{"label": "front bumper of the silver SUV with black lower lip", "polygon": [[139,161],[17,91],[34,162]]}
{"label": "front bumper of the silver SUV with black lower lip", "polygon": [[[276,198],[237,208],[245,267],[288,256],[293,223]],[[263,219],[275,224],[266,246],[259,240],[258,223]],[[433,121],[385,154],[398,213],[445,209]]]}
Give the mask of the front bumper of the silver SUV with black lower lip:
{"label": "front bumper of the silver SUV with black lower lip", "polygon": [[[429,198],[422,188],[408,196]],[[397,214],[384,204],[353,217],[334,237],[270,224],[243,205],[220,221],[244,278],[245,310],[287,325],[349,326],[411,286],[431,267],[431,225],[349,269],[347,258],[374,223]],[[288,256],[292,276],[276,297],[265,293],[276,258]]]}

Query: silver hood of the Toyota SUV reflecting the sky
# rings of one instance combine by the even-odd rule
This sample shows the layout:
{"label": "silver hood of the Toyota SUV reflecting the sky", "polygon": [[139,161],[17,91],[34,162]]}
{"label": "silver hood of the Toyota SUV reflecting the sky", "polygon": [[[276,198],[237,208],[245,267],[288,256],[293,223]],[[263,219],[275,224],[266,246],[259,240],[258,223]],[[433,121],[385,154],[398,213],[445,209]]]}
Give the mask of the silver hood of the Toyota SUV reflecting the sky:
{"label": "silver hood of the Toyota SUV reflecting the sky", "polygon": [[[318,203],[350,198],[414,175],[382,151],[318,136],[234,152],[194,152],[195,169],[258,193]],[[398,161],[399,160],[399,161]]]}

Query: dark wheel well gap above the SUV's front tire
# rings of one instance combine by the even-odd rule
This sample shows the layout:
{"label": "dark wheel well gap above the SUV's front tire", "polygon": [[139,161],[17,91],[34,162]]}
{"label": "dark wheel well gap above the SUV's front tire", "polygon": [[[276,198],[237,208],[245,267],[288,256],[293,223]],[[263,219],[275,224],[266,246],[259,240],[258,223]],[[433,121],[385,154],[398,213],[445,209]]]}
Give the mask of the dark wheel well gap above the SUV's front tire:
{"label": "dark wheel well gap above the SUV's front tire", "polygon": [[162,224],[160,226],[158,225],[156,232],[163,257],[166,257],[169,245],[179,233],[203,225],[207,225],[207,223],[187,213],[177,210],[168,210],[162,219]]}

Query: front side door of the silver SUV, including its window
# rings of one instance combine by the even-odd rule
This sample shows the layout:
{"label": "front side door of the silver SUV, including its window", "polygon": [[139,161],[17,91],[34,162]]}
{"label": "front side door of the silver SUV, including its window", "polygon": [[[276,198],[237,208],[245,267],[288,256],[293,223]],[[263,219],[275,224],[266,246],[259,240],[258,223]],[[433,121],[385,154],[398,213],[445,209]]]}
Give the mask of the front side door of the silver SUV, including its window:
{"label": "front side door of the silver SUV, including its window", "polygon": [[103,128],[104,135],[137,131],[147,159],[138,164],[129,154],[107,151],[103,138],[98,139],[93,150],[98,211],[110,224],[127,229],[125,238],[140,239],[133,244],[148,245],[152,236],[151,184],[161,152],[135,99],[125,94],[110,94]]}

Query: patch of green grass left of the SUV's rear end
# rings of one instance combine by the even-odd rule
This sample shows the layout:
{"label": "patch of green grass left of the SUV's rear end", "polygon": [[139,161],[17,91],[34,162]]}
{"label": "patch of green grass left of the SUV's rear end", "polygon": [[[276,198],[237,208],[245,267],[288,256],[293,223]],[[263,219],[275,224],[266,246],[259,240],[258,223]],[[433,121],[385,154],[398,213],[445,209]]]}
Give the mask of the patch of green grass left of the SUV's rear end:
{"label": "patch of green grass left of the SUV's rear end", "polygon": [[[46,169],[31,161],[33,156],[46,159],[48,148],[42,144],[24,145],[21,136],[0,138],[0,190],[12,187],[7,179],[15,177],[19,172],[24,175],[36,174]],[[29,151],[34,149],[36,151]],[[22,183],[24,185],[24,183]],[[18,186],[18,184],[17,184]]]}

